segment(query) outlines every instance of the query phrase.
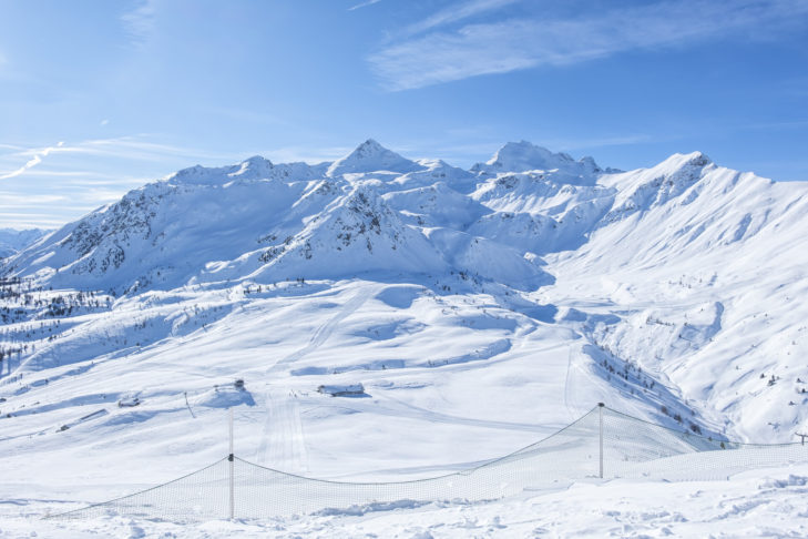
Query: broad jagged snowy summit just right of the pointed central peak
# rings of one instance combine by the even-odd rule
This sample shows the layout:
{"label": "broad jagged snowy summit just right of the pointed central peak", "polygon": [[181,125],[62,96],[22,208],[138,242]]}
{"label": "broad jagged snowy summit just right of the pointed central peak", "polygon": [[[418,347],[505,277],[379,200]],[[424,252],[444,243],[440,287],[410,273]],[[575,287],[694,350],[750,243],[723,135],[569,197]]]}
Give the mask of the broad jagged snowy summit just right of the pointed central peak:
{"label": "broad jagged snowy summit just right of the pointed central peak", "polygon": [[575,161],[566,153],[553,153],[528,141],[509,142],[489,161],[477,163],[471,167],[471,172],[480,175],[535,170],[559,170],[575,175],[594,175],[603,172],[592,157]]}

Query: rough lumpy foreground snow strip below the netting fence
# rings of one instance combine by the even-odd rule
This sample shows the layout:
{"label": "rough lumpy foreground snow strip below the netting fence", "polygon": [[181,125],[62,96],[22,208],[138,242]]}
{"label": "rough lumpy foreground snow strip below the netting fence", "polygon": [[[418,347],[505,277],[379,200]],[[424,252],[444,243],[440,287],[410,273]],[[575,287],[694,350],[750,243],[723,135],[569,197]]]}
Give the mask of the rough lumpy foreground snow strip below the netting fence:
{"label": "rough lumpy foreground snow strip below the netting fence", "polygon": [[42,520],[45,509],[60,506],[17,499],[3,488],[0,537],[806,537],[807,494],[808,465],[802,465],[724,481],[579,482],[488,504],[401,504],[341,515],[178,525],[124,517]]}

